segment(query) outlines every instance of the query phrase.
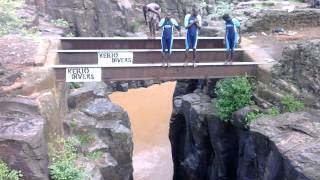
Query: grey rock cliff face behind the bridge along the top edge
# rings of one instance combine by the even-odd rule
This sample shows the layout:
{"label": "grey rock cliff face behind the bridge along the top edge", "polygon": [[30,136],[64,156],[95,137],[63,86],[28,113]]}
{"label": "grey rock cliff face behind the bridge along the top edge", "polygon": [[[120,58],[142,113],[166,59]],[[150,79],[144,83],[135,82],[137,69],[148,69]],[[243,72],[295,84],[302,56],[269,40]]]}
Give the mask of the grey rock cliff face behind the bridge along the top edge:
{"label": "grey rock cliff face behind the bridge along the top edge", "polygon": [[[32,2],[32,1],[31,1]],[[132,26],[144,25],[142,6],[138,0],[38,0],[34,2],[41,12],[53,18],[63,18],[71,23],[76,36],[126,36]],[[172,1],[160,0],[163,10],[173,17],[183,18],[196,4],[203,15],[213,10],[214,1]]]}

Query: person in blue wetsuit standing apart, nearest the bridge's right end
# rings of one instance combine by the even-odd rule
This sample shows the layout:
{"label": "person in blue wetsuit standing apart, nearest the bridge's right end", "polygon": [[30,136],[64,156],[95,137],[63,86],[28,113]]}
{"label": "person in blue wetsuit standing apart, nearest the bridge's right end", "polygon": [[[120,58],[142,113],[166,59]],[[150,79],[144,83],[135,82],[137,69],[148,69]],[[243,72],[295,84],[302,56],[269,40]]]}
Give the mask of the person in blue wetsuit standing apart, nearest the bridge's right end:
{"label": "person in blue wetsuit standing apart, nearest the bridge's right end", "polygon": [[227,52],[225,63],[230,62],[231,64],[233,62],[234,48],[237,47],[238,43],[241,43],[240,22],[236,18],[231,18],[229,14],[224,14],[222,18],[226,23],[224,43]]}

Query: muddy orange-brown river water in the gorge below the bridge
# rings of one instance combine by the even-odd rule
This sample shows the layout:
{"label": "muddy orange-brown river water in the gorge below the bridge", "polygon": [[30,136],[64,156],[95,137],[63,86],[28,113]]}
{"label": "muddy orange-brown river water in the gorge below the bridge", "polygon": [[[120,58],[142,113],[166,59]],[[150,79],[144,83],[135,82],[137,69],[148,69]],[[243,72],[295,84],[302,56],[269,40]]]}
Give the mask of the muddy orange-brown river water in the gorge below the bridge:
{"label": "muddy orange-brown river water in the gorge below the bridge", "polygon": [[115,92],[111,101],[129,114],[133,131],[134,180],[172,180],[168,138],[175,82]]}

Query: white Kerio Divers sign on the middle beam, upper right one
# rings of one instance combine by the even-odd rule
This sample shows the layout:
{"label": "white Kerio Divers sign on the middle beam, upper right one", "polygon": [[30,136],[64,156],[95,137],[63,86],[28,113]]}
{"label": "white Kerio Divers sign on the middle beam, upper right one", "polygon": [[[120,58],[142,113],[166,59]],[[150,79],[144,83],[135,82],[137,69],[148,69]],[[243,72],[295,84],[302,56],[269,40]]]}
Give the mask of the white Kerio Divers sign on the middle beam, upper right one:
{"label": "white Kerio Divers sign on the middle beam, upper right one", "polygon": [[103,66],[122,66],[133,63],[133,52],[98,52],[98,64]]}

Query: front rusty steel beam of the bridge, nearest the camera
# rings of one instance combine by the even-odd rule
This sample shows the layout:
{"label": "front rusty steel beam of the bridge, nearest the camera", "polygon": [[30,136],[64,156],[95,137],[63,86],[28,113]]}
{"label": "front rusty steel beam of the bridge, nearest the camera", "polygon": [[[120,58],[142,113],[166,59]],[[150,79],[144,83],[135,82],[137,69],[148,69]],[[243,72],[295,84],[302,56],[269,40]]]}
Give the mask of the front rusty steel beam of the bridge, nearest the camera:
{"label": "front rusty steel beam of the bridge, nearest the camera", "polygon": [[176,80],[176,79],[210,79],[233,76],[255,76],[257,63],[234,62],[232,65],[220,63],[198,63],[194,68],[192,63],[187,67],[183,63],[172,63],[170,67],[161,64],[135,64],[130,66],[99,66],[99,65],[57,65],[52,66],[56,71],[58,81],[66,79],[66,69],[101,68],[101,80]]}

